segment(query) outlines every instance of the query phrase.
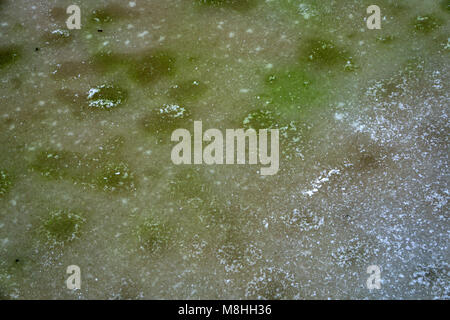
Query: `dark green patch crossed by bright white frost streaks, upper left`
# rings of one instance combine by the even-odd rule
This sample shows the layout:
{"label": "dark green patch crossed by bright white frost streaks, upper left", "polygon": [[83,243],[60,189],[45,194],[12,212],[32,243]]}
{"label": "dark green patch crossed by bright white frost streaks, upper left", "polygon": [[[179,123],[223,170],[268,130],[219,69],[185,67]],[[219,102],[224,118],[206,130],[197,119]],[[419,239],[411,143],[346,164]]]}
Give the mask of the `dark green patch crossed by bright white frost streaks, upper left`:
{"label": "dark green patch crossed by bright white frost streaks, upper left", "polygon": [[112,110],[123,105],[128,92],[116,85],[104,84],[91,88],[88,92],[88,107],[93,110]]}

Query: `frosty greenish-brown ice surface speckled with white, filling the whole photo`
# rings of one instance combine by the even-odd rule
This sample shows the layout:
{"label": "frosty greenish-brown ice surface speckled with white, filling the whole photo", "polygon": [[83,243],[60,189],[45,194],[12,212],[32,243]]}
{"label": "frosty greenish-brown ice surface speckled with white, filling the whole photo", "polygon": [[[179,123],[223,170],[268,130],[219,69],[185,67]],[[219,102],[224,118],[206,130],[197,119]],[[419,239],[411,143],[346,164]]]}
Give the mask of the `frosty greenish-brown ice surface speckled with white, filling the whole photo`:
{"label": "frosty greenish-brown ice surface speckled with white, filling the whole photo", "polygon": [[[3,1],[0,297],[448,299],[446,3]],[[195,120],[278,174],[174,166]]]}

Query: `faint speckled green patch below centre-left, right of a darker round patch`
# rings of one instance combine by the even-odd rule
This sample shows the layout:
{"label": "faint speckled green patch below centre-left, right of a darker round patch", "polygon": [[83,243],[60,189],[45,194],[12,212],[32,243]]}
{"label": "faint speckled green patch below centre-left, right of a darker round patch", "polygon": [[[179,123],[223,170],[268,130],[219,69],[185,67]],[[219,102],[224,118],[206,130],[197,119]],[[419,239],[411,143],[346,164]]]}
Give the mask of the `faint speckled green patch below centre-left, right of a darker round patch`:
{"label": "faint speckled green patch below centre-left, right of a darker round patch", "polygon": [[172,237],[171,231],[166,224],[153,218],[147,218],[137,228],[135,234],[142,249],[156,253],[167,248]]}

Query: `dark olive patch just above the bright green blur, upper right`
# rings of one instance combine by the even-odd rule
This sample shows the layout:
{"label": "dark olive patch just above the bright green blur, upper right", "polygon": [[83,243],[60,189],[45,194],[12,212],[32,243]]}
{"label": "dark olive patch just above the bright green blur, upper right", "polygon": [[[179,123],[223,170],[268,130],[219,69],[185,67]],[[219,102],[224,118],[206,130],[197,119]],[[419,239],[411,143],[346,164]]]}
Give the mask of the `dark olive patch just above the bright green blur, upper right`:
{"label": "dark olive patch just above the bright green blur, upper right", "polygon": [[321,68],[336,67],[344,71],[354,71],[356,65],[348,51],[332,41],[310,39],[301,50],[301,62],[310,62]]}

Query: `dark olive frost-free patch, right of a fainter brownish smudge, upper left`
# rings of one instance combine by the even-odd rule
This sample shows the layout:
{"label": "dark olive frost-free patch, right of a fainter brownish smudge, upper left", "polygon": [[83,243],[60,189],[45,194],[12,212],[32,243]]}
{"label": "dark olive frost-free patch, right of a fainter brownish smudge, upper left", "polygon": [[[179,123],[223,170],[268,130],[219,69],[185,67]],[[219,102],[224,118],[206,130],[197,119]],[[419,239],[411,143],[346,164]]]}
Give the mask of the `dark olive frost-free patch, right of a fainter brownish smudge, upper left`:
{"label": "dark olive frost-free patch, right of a fainter brownish smudge, upper left", "polygon": [[129,73],[135,81],[151,84],[164,76],[173,75],[175,60],[175,57],[167,51],[154,50],[136,59],[130,66]]}

